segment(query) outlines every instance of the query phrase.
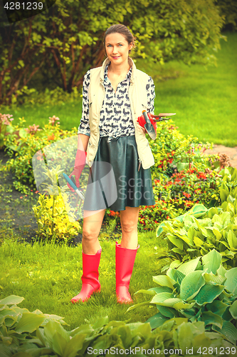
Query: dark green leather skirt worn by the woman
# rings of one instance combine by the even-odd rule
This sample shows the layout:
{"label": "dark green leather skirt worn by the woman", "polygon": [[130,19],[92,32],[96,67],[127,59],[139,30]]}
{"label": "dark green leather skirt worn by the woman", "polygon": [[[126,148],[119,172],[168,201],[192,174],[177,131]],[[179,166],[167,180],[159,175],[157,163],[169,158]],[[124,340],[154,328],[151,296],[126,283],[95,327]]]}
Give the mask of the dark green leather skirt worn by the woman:
{"label": "dark green leather skirt worn by the woman", "polygon": [[110,143],[107,139],[100,138],[83,209],[123,211],[126,206],[154,205],[151,171],[139,167],[135,136],[120,136]]}

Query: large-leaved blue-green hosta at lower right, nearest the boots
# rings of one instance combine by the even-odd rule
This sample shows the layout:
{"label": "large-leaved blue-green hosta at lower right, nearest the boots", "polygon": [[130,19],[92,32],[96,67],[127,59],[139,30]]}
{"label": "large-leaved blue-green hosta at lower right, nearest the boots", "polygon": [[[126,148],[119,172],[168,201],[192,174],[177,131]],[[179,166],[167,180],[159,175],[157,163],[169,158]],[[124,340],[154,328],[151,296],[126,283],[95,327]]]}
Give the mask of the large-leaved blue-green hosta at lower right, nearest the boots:
{"label": "large-leaved blue-green hosta at lower right, nearest the boots", "polygon": [[202,321],[206,331],[218,331],[226,340],[237,341],[237,267],[226,271],[221,254],[215,249],[186,263],[172,263],[166,275],[154,276],[157,287],[140,290],[151,301],[131,306],[157,306],[158,313],[149,318],[152,328],[174,317],[191,322]]}

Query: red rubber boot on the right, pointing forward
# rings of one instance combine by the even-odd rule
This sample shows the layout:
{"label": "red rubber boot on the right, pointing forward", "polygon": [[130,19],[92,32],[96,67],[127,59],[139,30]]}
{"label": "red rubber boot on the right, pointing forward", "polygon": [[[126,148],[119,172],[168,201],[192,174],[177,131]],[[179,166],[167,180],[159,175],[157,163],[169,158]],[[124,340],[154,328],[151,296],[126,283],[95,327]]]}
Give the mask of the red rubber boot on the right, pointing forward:
{"label": "red rubber boot on the right, pointing forward", "polygon": [[128,291],[130,278],[134,266],[137,249],[127,249],[120,247],[116,242],[115,248],[115,275],[116,275],[116,295],[118,303],[132,303],[132,298]]}

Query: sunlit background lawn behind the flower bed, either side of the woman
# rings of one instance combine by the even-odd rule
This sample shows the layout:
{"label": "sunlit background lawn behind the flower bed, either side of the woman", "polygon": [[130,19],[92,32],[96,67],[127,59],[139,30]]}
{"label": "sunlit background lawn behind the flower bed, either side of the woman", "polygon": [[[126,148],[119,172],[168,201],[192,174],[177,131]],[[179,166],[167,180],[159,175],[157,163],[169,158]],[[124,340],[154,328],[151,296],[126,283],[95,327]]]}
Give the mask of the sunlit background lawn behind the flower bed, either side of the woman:
{"label": "sunlit background lawn behind the flower bed, either side of the woman", "polygon": [[[237,146],[237,34],[226,34],[221,40],[217,67],[186,66],[172,61],[164,66],[150,68],[143,60],[137,60],[137,68],[154,78],[156,85],[155,113],[177,113],[174,121],[184,135],[197,136],[200,141],[225,146]],[[27,125],[43,126],[49,116],[60,118],[62,129],[78,128],[82,107],[80,98],[74,103],[21,106],[9,109],[14,119],[24,117]],[[4,109],[1,108],[1,112]],[[75,129],[76,133],[76,129]]]}

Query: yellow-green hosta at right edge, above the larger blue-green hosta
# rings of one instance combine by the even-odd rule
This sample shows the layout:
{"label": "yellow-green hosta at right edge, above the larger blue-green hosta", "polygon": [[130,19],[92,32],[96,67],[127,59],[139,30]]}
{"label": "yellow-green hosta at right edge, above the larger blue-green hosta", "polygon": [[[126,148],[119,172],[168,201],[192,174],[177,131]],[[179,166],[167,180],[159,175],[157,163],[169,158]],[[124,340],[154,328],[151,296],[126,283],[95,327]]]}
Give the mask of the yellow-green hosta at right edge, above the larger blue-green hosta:
{"label": "yellow-green hosta at right edge, above the larger blue-green hosta", "polygon": [[167,253],[174,261],[204,256],[212,249],[221,253],[225,268],[237,265],[237,200],[207,209],[197,204],[184,215],[164,221],[157,227],[157,237],[168,242]]}

